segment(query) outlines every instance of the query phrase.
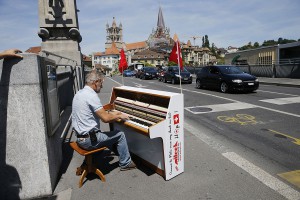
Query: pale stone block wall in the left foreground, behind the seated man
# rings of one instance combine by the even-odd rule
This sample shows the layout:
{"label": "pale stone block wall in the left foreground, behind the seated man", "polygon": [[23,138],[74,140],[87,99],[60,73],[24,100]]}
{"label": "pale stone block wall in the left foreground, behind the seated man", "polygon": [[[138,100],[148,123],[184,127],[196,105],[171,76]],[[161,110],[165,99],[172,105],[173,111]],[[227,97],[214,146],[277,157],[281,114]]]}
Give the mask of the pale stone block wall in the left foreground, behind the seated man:
{"label": "pale stone block wall in the left foreground, behind the seated man", "polygon": [[0,197],[51,195],[62,163],[60,134],[47,134],[40,58],[0,60]]}

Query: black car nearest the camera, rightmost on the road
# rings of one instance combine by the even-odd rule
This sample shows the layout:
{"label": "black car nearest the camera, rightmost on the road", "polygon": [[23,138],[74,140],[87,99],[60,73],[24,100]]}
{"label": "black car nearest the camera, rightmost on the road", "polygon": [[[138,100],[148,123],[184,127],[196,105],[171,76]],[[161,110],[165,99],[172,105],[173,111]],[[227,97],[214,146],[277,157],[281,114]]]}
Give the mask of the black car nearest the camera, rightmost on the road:
{"label": "black car nearest the camera, rightmost on the road", "polygon": [[223,93],[229,91],[249,91],[258,89],[258,79],[231,65],[206,66],[197,74],[197,88],[211,88]]}

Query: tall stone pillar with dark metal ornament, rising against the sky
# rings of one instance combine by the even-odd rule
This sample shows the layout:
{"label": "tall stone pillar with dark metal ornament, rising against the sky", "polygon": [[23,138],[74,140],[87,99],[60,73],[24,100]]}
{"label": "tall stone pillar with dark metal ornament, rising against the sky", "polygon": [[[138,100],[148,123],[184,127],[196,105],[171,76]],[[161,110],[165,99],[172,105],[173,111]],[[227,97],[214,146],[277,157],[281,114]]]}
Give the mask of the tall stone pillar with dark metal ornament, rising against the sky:
{"label": "tall stone pillar with dark metal ornament, rising against the sky", "polygon": [[41,50],[75,60],[81,65],[82,38],[76,0],[39,0]]}

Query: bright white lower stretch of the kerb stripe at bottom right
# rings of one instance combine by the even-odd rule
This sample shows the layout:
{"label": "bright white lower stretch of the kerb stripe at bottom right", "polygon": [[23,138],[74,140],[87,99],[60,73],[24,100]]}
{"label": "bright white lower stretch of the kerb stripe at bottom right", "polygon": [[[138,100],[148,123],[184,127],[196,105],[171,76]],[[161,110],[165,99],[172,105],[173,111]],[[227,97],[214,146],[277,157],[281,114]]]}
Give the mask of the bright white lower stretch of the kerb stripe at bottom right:
{"label": "bright white lower stretch of the kerb stripe at bottom right", "polygon": [[242,158],[238,154],[234,152],[226,152],[222,155],[285,198],[290,200],[300,199],[300,193],[298,191],[294,190],[248,160]]}

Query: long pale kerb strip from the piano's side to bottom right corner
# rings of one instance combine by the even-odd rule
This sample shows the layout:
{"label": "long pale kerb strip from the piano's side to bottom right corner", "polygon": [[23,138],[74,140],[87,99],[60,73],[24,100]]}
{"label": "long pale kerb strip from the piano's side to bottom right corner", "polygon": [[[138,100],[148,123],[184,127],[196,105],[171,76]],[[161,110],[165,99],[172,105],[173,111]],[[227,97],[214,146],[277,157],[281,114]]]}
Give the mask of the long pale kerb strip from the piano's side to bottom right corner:
{"label": "long pale kerb strip from the piano's side to bottom right corner", "polygon": [[[294,190],[281,180],[270,175],[263,169],[257,167],[256,165],[244,159],[235,152],[232,152],[228,147],[216,142],[211,137],[204,134],[203,130],[201,132],[199,129],[194,128],[187,122],[184,123],[184,128],[188,130],[191,134],[195,135],[197,138],[202,140],[204,143],[217,150],[229,161],[231,161],[244,171],[248,172],[251,176],[258,179],[264,185],[268,186],[269,188],[273,189],[274,191],[278,192],[279,194],[281,194],[289,200],[300,199],[300,193],[298,191]],[[210,130],[205,130],[205,132],[210,132]]]}

